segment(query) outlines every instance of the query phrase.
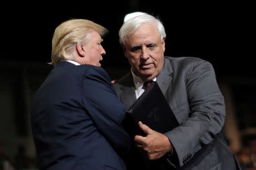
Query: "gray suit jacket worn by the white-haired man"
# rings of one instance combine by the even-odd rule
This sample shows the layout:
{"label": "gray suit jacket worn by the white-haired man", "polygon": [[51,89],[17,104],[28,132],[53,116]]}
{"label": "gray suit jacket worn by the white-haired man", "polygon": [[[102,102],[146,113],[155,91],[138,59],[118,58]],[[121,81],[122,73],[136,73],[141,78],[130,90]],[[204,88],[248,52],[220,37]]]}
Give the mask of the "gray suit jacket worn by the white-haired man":
{"label": "gray suit jacket worn by the white-haired man", "polygon": [[[180,123],[165,134],[175,148],[176,166],[236,169],[236,159],[220,134],[225,104],[212,65],[200,58],[164,57],[156,82]],[[126,107],[136,100],[131,73],[123,76],[114,88]]]}

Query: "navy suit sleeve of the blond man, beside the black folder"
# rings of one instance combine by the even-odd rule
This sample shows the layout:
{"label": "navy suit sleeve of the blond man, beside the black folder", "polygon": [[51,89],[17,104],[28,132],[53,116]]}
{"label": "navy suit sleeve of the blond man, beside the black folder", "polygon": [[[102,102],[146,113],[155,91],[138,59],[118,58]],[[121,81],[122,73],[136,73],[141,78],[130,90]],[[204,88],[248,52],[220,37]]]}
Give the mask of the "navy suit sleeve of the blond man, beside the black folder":
{"label": "navy suit sleeve of the blond man, beside the black folder", "polygon": [[109,75],[101,67],[85,71],[82,103],[98,130],[122,156],[130,151],[131,137],[122,127],[125,107],[118,100]]}

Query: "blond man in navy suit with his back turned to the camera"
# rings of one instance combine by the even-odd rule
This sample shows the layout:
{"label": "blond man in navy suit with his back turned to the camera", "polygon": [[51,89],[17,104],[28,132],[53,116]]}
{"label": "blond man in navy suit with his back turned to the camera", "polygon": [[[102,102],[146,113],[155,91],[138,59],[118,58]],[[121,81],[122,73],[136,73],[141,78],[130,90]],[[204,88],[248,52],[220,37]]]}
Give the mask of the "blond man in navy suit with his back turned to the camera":
{"label": "blond man in navy suit with his back turned to the camera", "polygon": [[100,61],[108,30],[85,19],[61,23],[52,39],[54,69],[36,91],[31,125],[40,169],[126,169],[131,138]]}

